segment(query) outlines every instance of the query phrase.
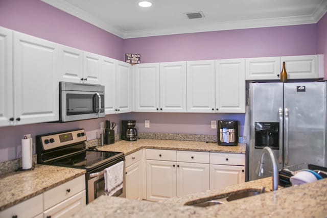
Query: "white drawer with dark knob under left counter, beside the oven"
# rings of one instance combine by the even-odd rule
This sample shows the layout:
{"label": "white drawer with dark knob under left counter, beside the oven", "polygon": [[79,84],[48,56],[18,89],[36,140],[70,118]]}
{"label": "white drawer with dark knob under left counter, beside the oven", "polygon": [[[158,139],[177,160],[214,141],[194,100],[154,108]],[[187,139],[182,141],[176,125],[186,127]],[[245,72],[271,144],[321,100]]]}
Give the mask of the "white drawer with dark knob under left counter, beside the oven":
{"label": "white drawer with dark knob under left counter, beside the oven", "polygon": [[44,210],[76,195],[85,189],[85,175],[77,177],[43,193]]}

